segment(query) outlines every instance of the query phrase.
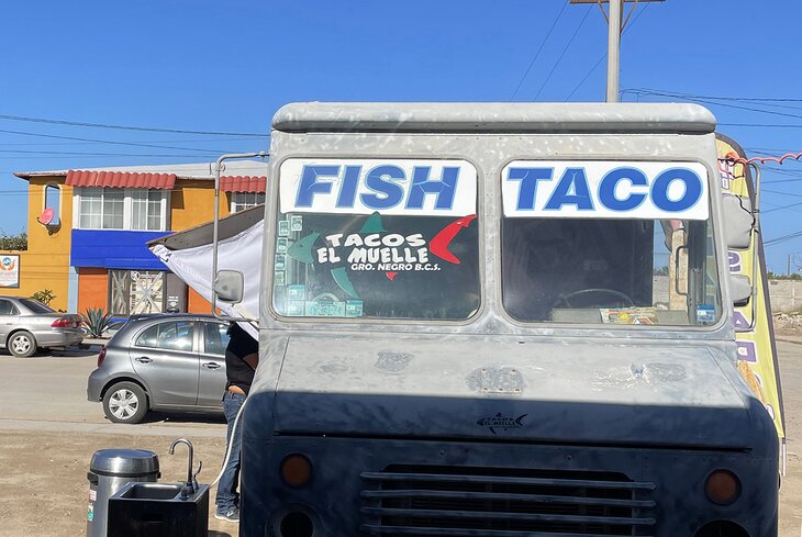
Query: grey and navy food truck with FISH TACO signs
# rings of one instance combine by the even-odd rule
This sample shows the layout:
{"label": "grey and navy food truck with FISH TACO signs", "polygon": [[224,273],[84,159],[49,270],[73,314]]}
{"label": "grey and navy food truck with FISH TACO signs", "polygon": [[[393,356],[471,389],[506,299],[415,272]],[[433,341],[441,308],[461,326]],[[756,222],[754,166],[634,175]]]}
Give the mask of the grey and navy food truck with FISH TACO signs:
{"label": "grey and navy food truck with FISH TACO signs", "polygon": [[690,104],[279,110],[265,208],[220,224],[215,304],[260,345],[241,535],[777,536],[727,257],[755,219],[714,131]]}

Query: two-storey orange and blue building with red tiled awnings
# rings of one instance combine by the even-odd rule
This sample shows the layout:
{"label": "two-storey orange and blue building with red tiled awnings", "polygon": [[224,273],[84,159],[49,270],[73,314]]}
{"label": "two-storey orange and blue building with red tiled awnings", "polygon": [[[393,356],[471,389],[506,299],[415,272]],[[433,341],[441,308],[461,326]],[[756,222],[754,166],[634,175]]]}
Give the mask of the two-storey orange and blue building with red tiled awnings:
{"label": "two-storey orange and blue building with red tiled awnings", "polygon": [[[0,250],[0,294],[49,290],[51,306],[114,316],[210,305],[146,243],[212,220],[212,164],[15,172],[29,183],[27,250]],[[221,216],[264,203],[267,164],[225,164]]]}

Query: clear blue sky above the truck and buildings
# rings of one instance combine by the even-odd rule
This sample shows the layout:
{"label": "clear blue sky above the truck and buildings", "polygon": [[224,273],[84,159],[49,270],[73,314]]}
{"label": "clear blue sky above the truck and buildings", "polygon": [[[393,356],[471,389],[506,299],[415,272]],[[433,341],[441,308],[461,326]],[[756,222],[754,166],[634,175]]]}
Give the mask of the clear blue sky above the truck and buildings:
{"label": "clear blue sky above the truck and buildings", "polygon": [[[5,2],[0,230],[25,226],[26,183],[11,171],[263,149],[259,135],[290,101],[603,100],[606,23],[598,5],[567,1]],[[623,100],[799,99],[799,20],[802,2],[641,3],[623,37],[621,88],[668,96]],[[750,156],[802,152],[802,101],[703,100],[724,124],[792,125],[722,125]],[[766,239],[802,231],[802,164],[765,170],[762,209]],[[767,254],[771,270],[786,272],[789,256],[799,270],[802,236]]]}

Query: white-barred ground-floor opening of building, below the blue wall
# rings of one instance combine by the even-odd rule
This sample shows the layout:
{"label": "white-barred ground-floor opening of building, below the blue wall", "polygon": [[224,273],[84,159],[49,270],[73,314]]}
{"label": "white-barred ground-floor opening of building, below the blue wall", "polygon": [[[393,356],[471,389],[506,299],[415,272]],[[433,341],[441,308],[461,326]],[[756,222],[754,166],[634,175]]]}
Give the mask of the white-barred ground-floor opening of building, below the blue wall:
{"label": "white-barred ground-floor opening of building, below the blue wall", "polygon": [[109,279],[112,314],[127,316],[164,312],[164,271],[109,270]]}

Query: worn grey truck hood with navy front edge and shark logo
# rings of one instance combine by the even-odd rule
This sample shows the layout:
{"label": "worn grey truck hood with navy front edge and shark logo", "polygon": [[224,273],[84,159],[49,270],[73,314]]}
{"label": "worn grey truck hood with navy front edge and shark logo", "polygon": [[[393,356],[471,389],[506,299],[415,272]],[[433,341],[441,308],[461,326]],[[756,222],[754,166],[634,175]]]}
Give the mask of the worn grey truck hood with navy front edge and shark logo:
{"label": "worn grey truck hood with navy front edge and shark logo", "polygon": [[747,449],[754,402],[734,365],[712,353],[721,351],[292,336],[274,432]]}

